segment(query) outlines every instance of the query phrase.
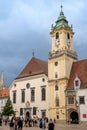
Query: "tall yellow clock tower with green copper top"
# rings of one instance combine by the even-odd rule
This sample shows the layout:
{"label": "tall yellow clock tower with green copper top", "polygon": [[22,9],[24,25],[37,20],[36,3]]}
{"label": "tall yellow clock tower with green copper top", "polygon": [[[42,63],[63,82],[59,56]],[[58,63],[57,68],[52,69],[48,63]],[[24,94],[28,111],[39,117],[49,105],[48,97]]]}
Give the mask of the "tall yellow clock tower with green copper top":
{"label": "tall yellow clock tower with green copper top", "polygon": [[73,28],[69,26],[62,6],[55,26],[51,27],[50,35],[52,46],[48,59],[49,117],[65,122],[65,90],[72,63],[77,60],[77,54],[73,45]]}

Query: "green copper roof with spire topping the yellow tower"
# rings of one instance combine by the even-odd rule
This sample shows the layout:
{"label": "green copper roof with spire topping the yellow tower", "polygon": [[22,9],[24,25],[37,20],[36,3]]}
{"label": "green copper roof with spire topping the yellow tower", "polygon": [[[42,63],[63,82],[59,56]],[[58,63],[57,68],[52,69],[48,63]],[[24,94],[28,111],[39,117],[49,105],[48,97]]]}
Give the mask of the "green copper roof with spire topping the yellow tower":
{"label": "green copper roof with spire topping the yellow tower", "polygon": [[56,21],[56,25],[53,27],[53,30],[56,29],[56,28],[61,28],[61,27],[65,27],[65,28],[71,28],[69,25],[68,25],[68,21],[66,20],[66,17],[64,16],[64,13],[62,11],[62,6],[61,6],[61,12],[59,14],[59,17]]}

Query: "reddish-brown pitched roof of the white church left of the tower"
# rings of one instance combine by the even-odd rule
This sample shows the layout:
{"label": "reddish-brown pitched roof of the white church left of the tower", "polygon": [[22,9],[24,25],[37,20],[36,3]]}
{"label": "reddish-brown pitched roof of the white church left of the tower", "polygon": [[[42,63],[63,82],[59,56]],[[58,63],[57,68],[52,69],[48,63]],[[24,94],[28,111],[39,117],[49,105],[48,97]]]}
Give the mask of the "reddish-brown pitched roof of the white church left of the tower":
{"label": "reddish-brown pitched roof of the white church left of the tower", "polygon": [[16,79],[42,73],[48,75],[48,62],[33,57]]}

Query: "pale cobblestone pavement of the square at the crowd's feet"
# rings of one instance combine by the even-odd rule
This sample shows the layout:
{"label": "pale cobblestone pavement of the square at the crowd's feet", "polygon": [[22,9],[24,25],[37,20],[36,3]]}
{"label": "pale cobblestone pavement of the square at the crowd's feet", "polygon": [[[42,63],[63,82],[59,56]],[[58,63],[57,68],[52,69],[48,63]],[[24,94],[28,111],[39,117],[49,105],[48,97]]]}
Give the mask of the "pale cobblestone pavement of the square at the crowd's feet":
{"label": "pale cobblestone pavement of the square at the crowd's feet", "polygon": [[[9,126],[0,126],[0,130],[10,130]],[[23,127],[23,130],[41,130],[39,127]],[[48,130],[48,128],[46,128]],[[55,130],[87,130],[87,124],[55,124]]]}

